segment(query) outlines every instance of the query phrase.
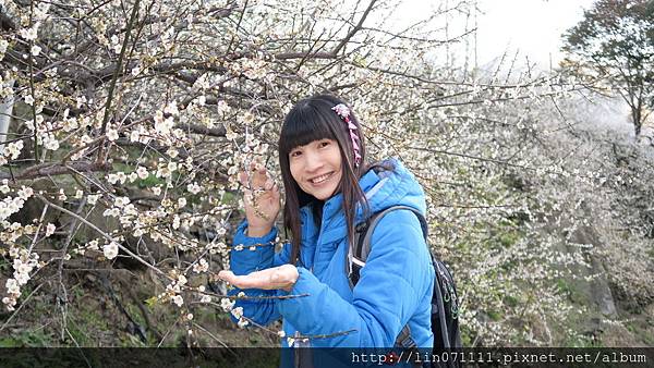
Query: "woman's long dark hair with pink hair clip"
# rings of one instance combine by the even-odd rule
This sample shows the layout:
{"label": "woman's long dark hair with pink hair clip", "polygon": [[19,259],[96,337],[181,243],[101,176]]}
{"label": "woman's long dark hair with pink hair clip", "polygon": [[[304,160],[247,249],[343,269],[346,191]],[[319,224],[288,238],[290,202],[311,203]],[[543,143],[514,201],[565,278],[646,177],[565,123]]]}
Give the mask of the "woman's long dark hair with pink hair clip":
{"label": "woman's long dark hair with pink hair clip", "polygon": [[289,163],[290,151],[299,146],[307,145],[314,140],[334,139],[338,143],[341,154],[342,175],[337,192],[343,196],[342,210],[348,224],[348,238],[354,234],[354,217],[356,204],[361,204],[364,213],[370,212],[365,194],[359,186],[359,179],[365,173],[365,139],[356,115],[350,109],[350,121],[356,126],[360,139],[361,163],[354,167],[354,151],[347,123],[331,108],[343,103],[341,99],[331,95],[317,95],[295,103],[283,121],[279,134],[279,165],[286,192],[283,206],[283,226],[291,233],[291,258],[295,265],[300,255],[302,226],[300,223],[300,208],[311,205],[316,225],[320,225],[323,201],[306,194],[300,188],[293,176]]}

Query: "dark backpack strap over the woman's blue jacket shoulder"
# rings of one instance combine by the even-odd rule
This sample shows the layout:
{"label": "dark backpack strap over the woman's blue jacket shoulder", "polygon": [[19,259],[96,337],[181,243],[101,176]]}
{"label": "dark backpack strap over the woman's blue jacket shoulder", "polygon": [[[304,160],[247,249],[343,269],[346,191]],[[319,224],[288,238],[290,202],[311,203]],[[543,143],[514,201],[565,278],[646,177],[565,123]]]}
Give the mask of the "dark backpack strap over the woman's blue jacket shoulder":
{"label": "dark backpack strap over the woman's blue jacket shoulder", "polygon": [[[420,220],[425,243],[427,243],[427,221],[425,220],[425,217],[415,208],[409,206],[391,206],[379,212],[373,213],[373,216],[371,216],[366,221],[356,224],[354,238],[352,241],[353,247],[348,247],[348,262],[346,272],[348,274],[351,289],[354,289],[354,285],[356,285],[359,282],[361,269],[365,266],[367,256],[371,253],[373,232],[375,231],[377,223],[386,213],[400,209],[410,210],[411,212],[415,213]],[[411,338],[411,329],[409,328],[409,324],[404,326],[402,331],[400,331],[400,334],[396,339],[396,345],[408,349],[414,349],[417,347],[415,341],[413,338]]]}

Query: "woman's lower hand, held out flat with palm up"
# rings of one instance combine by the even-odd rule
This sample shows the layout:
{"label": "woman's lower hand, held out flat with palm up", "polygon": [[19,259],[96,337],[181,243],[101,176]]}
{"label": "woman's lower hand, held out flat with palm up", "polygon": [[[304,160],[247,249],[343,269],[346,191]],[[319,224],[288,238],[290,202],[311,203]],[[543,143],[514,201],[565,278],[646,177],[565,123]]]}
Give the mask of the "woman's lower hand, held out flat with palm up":
{"label": "woman's lower hand, held out flat with palm up", "polygon": [[282,265],[255,271],[245,275],[235,275],[232,271],[220,271],[218,277],[239,289],[281,289],[290,292],[300,273],[293,265]]}

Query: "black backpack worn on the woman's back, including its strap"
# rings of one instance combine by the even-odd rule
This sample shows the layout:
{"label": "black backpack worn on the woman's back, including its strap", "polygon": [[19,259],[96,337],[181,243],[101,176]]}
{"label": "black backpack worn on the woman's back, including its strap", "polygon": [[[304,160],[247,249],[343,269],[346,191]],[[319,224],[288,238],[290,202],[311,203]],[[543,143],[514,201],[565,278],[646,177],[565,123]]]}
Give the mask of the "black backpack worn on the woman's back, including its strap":
{"label": "black backpack worn on the woman's back, including its strap", "polygon": [[[353,289],[359,282],[360,271],[365,266],[368,254],[371,253],[373,231],[377,225],[377,222],[388,212],[405,209],[410,210],[420,220],[425,243],[427,241],[427,221],[424,216],[420,213],[415,208],[409,206],[392,206],[379,212],[373,213],[366,221],[361,222],[355,228],[353,245],[349,248],[347,259],[347,274],[350,280],[350,286]],[[434,352],[443,352],[447,349],[460,349],[461,333],[459,330],[459,299],[457,297],[457,287],[452,274],[445,266],[443,261],[432,256],[432,265],[434,266],[435,280],[434,280],[434,294],[432,296],[432,332],[434,333]],[[416,348],[416,344],[411,338],[411,331],[409,326],[404,326],[398,338],[396,339],[396,346],[412,349]],[[438,366],[438,365],[435,365]],[[443,366],[443,365],[440,365]],[[460,366],[459,363],[449,363],[446,366]]]}

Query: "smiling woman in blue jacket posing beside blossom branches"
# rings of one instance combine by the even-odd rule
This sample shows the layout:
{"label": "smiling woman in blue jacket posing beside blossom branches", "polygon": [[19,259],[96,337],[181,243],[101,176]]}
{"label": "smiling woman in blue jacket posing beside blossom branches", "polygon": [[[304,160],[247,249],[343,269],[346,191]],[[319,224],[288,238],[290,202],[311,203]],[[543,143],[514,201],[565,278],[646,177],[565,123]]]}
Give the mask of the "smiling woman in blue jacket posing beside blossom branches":
{"label": "smiling woman in blue jacket posing beside blossom branches", "polygon": [[[233,242],[243,246],[231,253],[231,271],[219,277],[237,287],[232,295],[298,295],[235,304],[258,324],[282,318],[283,347],[392,347],[404,326],[417,346],[433,346],[434,269],[412,211],[384,216],[360,280],[350,286],[346,265],[355,225],[390,206],[423,214],[426,207],[422,187],[399,161],[365,164],[364,140],[354,113],[336,97],[311,97],[291,109],[279,137],[291,243],[277,254],[279,191],[264,168],[241,174],[246,219]],[[283,349],[283,367],[292,366],[292,355]]]}

